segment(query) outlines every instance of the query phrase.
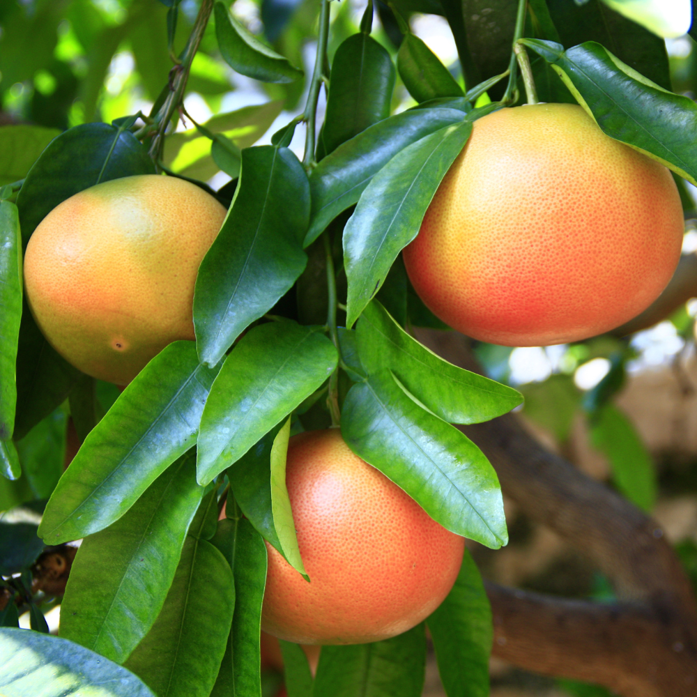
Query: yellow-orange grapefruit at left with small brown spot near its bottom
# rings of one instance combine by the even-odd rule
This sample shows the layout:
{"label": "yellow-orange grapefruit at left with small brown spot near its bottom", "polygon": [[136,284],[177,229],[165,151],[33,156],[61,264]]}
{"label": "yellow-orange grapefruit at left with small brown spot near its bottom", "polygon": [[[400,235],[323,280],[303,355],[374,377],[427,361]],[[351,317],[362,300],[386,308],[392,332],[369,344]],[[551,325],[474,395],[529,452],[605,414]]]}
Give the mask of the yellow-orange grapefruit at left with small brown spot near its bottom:
{"label": "yellow-orange grapefruit at left with small brown spot near its bottom", "polygon": [[26,247],[39,328],[82,372],[129,383],[164,346],[194,339],[194,282],[224,217],[201,188],[154,174],[66,199]]}

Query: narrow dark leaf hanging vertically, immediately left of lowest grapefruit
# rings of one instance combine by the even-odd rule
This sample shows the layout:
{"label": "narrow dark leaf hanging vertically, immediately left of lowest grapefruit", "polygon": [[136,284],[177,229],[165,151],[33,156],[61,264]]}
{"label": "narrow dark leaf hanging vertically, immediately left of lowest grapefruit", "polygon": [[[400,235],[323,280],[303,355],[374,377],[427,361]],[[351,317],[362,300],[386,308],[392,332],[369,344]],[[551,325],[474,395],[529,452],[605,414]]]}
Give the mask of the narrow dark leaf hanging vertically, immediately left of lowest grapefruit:
{"label": "narrow dark leaf hanging vertically, immediately left of lowest grapefruit", "polygon": [[211,697],[261,694],[261,603],[266,585],[266,546],[250,521],[239,516],[218,523],[211,540],[235,579],[235,612],[220,673]]}

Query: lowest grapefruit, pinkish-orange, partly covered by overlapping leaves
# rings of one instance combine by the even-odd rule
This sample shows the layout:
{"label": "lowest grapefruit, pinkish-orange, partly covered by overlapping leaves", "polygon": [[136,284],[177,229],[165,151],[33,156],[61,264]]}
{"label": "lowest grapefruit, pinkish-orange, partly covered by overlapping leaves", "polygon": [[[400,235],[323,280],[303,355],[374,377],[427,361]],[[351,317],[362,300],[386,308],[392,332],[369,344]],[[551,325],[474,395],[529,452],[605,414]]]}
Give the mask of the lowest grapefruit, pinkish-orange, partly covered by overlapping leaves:
{"label": "lowest grapefruit, pinkish-orange, partly covered by overlapping leaves", "polygon": [[291,438],[286,485],[310,583],[267,544],[264,631],[302,644],[379,641],[450,592],[464,537],[353,454],[339,429]]}

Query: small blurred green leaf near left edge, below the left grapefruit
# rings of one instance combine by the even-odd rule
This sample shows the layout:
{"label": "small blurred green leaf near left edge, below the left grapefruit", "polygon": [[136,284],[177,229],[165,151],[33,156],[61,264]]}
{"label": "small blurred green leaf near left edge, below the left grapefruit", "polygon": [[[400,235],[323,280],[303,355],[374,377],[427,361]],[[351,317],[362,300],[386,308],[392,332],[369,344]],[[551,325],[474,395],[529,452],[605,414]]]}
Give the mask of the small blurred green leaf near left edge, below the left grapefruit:
{"label": "small blurred green leaf near left edge, below the left grapefruit", "polygon": [[22,465],[22,479],[34,498],[49,498],[63,474],[66,459],[68,413],[58,408],[42,419],[21,441],[15,441]]}

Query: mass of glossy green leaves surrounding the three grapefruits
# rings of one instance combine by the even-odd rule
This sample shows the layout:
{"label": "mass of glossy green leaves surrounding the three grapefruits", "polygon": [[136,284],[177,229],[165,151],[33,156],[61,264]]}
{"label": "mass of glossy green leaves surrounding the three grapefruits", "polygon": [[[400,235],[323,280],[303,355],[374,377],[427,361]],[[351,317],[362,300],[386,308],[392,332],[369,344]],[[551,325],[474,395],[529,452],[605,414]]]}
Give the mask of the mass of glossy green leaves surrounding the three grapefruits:
{"label": "mass of glossy green leaves surrounding the three grapefruits", "polygon": [[[170,135],[158,163],[135,135],[147,135],[137,130],[135,116],[73,125],[57,137],[6,127],[12,134],[5,142],[22,138],[33,150],[17,148],[14,169],[3,172],[6,183],[26,174],[16,201],[19,185],[0,195],[0,470],[6,477],[0,478],[0,508],[50,496],[39,529],[44,542],[84,541],[62,604],[61,635],[72,640],[72,653],[56,643],[61,640],[0,629],[0,649],[13,655],[0,684],[19,673],[36,684],[46,680],[45,666],[90,684],[93,673],[75,666],[101,661],[113,673],[114,695],[151,694],[118,664],[161,697],[259,694],[264,542],[306,573],[284,487],[288,438],[328,427],[332,406],[341,412],[342,435],[353,451],[436,521],[487,546],[505,544],[496,473],[451,424],[494,418],[520,397],[448,364],[411,337],[405,329],[411,325],[442,325],[415,296],[399,257],[473,121],[501,106],[477,99],[487,91],[500,96],[514,22],[505,30],[505,50],[498,40],[487,47],[483,42],[498,36],[498,27],[482,31],[476,20],[466,21],[478,7],[466,4],[465,10],[451,0],[383,8],[385,31],[397,29],[401,43],[398,52],[395,46],[399,79],[418,102],[393,116],[395,63],[371,36],[369,6],[360,31],[335,48],[325,75],[326,118],[304,163],[288,147],[296,121],[271,145],[253,146],[279,113],[278,101]],[[178,31],[187,24],[185,3],[163,5],[160,65],[162,54],[169,60],[176,53]],[[130,3],[125,17],[150,17],[143,7]],[[286,50],[302,8],[278,24],[273,3],[262,5],[262,18],[265,7],[274,48],[220,2],[214,31],[206,30],[201,45],[233,70],[286,89],[269,93],[291,100],[305,79],[295,67],[298,56]],[[47,5],[38,8],[48,12]],[[411,33],[404,17],[413,9],[447,17],[465,83],[473,85],[468,91]],[[12,21],[35,21],[21,9],[13,12]],[[75,33],[80,21],[72,24]],[[110,59],[127,36],[145,76],[147,61],[138,58],[143,45],[137,49],[132,38],[139,21],[114,25],[123,33],[113,27],[83,32],[85,51],[92,41],[102,56],[101,68],[94,59],[100,85],[104,56]],[[539,54],[533,68],[543,100],[576,98],[608,135],[696,181],[697,162],[687,147],[696,107],[666,91],[667,60],[656,37],[595,0],[573,12],[531,2],[525,36],[523,43]],[[10,71],[7,78],[5,63],[0,70],[3,80],[37,79],[31,66],[26,75]],[[480,73],[498,77],[479,82]],[[153,82],[156,114],[158,95],[169,90],[160,92],[166,72]],[[99,90],[92,84],[90,92],[89,84],[85,78],[81,88],[92,99],[83,97],[85,113],[98,103]],[[0,131],[0,148],[2,138]],[[117,397],[68,365],[38,331],[22,300],[22,249],[61,201],[100,181],[154,173],[155,164],[194,180],[226,171],[233,181],[212,193],[229,205],[229,214],[199,270],[197,342],[171,344]],[[337,314],[344,325],[338,330]],[[61,476],[62,457],[46,457],[38,444],[56,443],[54,452],[62,447],[66,400],[84,442]],[[227,519],[218,522],[225,500]],[[468,556],[427,625],[447,694],[486,695],[491,617]],[[369,684],[376,697],[386,694],[386,685],[417,696],[425,646],[420,625],[385,642],[324,648],[313,681],[300,650],[286,644],[289,694],[351,695]]]}

